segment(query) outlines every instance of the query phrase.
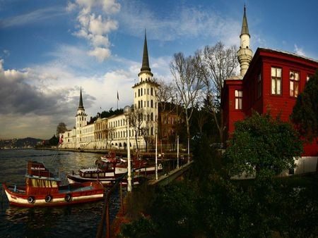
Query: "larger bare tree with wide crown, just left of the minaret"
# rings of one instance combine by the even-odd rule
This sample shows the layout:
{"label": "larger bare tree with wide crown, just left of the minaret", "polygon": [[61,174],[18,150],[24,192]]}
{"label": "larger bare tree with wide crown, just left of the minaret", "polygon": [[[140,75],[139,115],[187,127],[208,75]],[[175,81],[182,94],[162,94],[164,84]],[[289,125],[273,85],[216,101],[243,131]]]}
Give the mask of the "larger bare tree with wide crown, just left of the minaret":
{"label": "larger bare tree with wide crown, just left of the minaret", "polygon": [[220,107],[220,94],[223,82],[228,77],[235,75],[238,61],[236,46],[225,48],[222,42],[214,46],[206,46],[203,50],[196,51],[196,71],[204,80],[206,89],[206,108],[213,115],[218,128],[220,142],[223,142],[223,111]]}

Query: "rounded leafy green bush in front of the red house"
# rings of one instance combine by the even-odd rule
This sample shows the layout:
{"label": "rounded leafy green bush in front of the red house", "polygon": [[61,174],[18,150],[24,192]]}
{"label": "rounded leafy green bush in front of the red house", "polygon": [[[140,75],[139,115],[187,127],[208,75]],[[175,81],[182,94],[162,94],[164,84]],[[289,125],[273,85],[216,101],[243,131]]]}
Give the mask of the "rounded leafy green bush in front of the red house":
{"label": "rounded leafy green bush in front of the red house", "polygon": [[257,177],[278,175],[293,168],[294,157],[302,153],[302,144],[290,123],[271,115],[253,115],[235,123],[224,158],[230,175],[256,173]]}

